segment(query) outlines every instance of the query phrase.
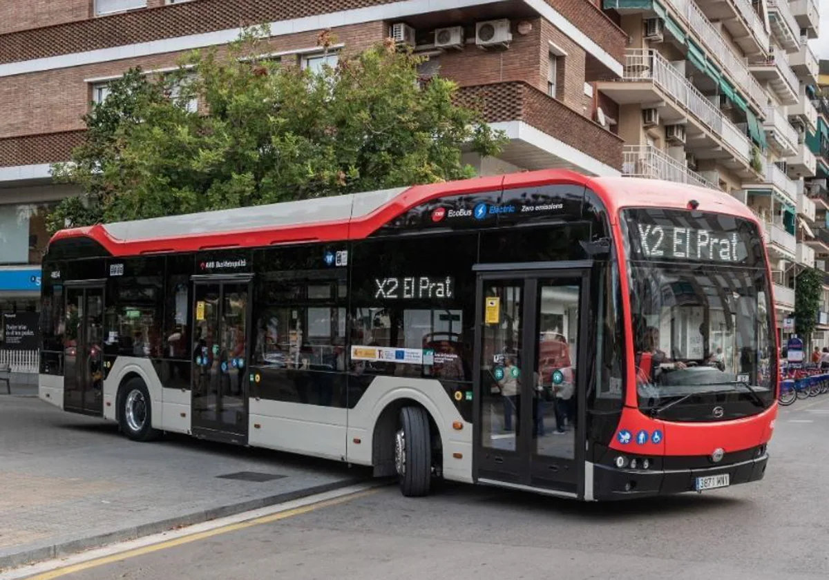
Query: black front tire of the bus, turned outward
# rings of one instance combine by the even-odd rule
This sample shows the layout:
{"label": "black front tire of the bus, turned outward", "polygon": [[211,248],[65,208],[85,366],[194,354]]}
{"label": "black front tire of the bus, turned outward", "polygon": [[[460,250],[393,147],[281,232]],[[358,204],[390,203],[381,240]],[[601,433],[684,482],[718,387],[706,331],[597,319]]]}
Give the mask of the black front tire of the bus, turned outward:
{"label": "black front tire of the bus, turned outward", "polygon": [[432,441],[429,415],[421,407],[400,409],[395,433],[395,468],[406,497],[427,495],[432,484]]}

